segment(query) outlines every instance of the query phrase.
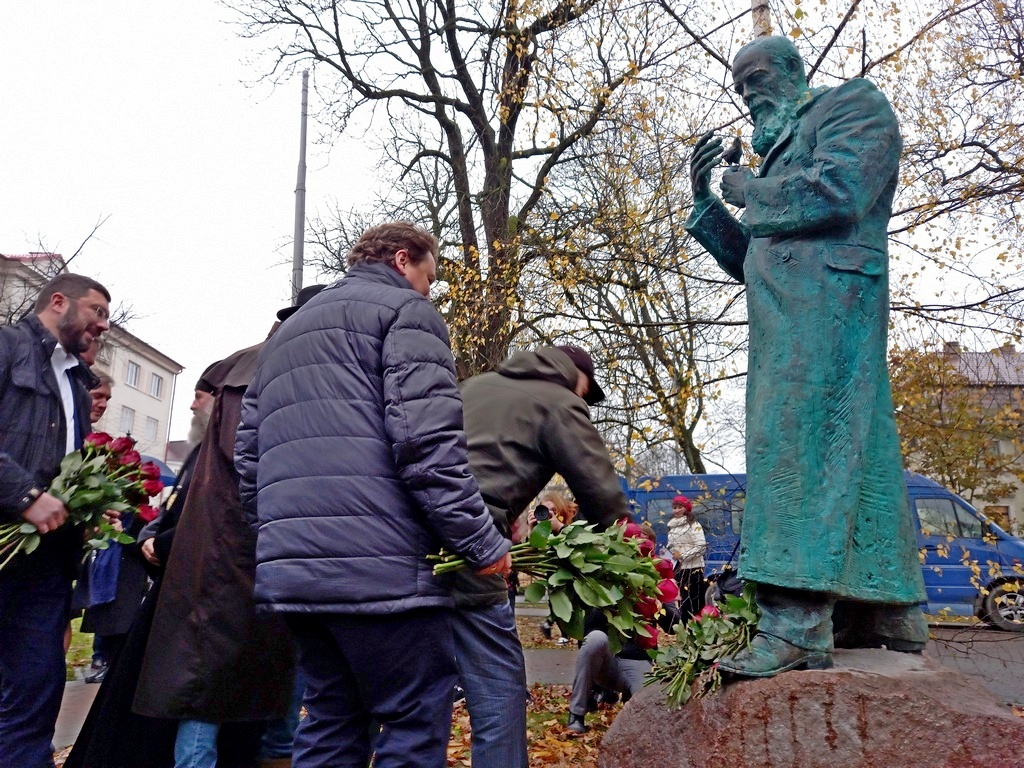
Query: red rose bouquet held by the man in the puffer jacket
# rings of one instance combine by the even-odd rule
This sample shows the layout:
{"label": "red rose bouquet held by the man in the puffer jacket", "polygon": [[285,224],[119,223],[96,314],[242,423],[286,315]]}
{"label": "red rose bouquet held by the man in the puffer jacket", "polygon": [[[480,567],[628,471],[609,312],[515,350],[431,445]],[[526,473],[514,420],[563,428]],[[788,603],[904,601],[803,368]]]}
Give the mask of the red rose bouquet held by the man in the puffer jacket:
{"label": "red rose bouquet held by the man in the puffer jacket", "polygon": [[[672,563],[645,554],[642,543],[649,540],[632,522],[597,530],[579,521],[552,534],[551,522],[544,520],[529,539],[513,545],[512,567],[537,578],[526,588],[526,601],[542,602],[547,594],[563,637],[583,640],[585,616],[600,610],[608,620],[613,652],[630,637],[654,648],[655,616],[662,602],[674,600],[679,590],[672,580]],[[438,560],[435,574],[466,567],[465,561],[443,553],[431,559]]]}

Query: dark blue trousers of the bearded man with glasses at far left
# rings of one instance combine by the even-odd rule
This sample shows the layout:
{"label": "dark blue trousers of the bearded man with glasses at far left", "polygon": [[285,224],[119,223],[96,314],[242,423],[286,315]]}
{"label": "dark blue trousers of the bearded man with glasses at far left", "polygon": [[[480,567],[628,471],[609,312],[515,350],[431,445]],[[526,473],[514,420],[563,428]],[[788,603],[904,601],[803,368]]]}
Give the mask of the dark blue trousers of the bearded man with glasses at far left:
{"label": "dark blue trousers of the bearded man with glasses at far left", "polygon": [[0,768],[53,765],[63,697],[71,580],[52,559],[26,559],[0,571]]}

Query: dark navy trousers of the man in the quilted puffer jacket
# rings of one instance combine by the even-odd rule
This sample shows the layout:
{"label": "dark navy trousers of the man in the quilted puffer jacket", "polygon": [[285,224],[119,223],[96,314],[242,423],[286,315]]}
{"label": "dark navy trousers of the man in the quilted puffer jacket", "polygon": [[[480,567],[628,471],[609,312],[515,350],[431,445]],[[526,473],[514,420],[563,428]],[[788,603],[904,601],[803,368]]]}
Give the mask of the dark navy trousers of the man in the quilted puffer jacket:
{"label": "dark navy trousers of the man in the quilted puffer jacket", "polygon": [[375,768],[445,765],[457,679],[452,611],[286,617],[306,680],[293,768],[366,768],[371,752]]}

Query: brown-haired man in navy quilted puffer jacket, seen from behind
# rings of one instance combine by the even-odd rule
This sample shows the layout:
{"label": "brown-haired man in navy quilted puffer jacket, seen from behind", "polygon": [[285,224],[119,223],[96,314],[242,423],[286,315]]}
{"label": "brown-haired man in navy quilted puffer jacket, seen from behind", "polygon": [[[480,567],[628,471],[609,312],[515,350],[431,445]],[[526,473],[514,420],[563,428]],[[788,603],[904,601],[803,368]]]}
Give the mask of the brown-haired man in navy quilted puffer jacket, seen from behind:
{"label": "brown-haired man in navy quilted puffer jacket, seen from behind", "polygon": [[307,681],[300,768],[366,765],[372,749],[378,768],[444,765],[453,601],[427,556],[510,563],[469,472],[447,331],[427,298],[436,253],[413,224],[367,230],[345,278],[267,342],[243,403],[256,599],[288,616]]}

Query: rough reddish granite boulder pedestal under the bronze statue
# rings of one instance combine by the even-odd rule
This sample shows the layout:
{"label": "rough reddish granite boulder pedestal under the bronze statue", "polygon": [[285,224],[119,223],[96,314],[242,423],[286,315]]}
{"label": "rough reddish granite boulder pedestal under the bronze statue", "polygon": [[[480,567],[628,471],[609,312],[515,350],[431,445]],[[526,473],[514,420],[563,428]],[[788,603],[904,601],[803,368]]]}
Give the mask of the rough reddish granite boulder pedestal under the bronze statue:
{"label": "rough reddish granite boulder pedestal under the bronze statue", "polygon": [[1024,719],[927,656],[840,650],[823,672],[729,683],[670,712],[656,686],[598,768],[1020,768]]}

